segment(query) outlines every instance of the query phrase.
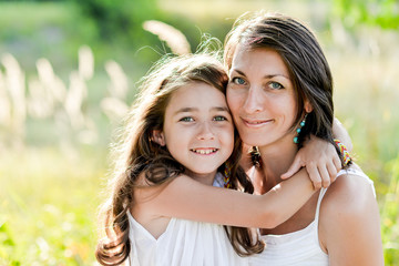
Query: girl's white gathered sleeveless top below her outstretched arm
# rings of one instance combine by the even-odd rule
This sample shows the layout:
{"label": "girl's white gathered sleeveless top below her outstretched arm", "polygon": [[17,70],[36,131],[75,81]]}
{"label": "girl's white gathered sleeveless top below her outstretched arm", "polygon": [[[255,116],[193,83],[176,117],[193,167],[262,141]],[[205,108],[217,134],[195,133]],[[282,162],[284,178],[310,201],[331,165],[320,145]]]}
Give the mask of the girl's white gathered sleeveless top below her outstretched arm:
{"label": "girl's white gathered sleeveless top below her outstretched arm", "polygon": [[[213,185],[223,187],[222,174],[216,174]],[[233,249],[223,225],[171,218],[155,239],[130,213],[127,216],[131,266],[248,265],[248,258]]]}

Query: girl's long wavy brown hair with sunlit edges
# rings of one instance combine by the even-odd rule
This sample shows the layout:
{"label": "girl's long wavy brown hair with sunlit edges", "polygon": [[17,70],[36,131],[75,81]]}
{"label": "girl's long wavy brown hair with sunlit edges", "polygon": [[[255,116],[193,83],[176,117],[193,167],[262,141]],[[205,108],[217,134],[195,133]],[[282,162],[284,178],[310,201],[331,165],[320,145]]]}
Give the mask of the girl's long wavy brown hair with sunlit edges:
{"label": "girl's long wavy brown hair with sunlit edges", "polygon": [[[100,213],[100,228],[105,237],[96,246],[96,258],[102,265],[119,265],[130,252],[127,211],[134,204],[134,188],[137,177],[145,173],[149,185],[160,185],[184,172],[167,149],[151,141],[154,130],[162,130],[167,103],[178,88],[192,82],[204,82],[225,93],[228,78],[223,64],[211,54],[190,54],[160,61],[141,84],[141,92],[130,112],[124,136],[116,145],[113,177],[110,181],[109,200]],[[242,142],[237,132],[234,150],[227,165],[232,166],[233,190],[253,193],[254,187],[239,166]],[[226,164],[219,166],[223,172]],[[259,253],[263,244],[253,241],[247,228],[226,229],[231,243],[241,255]]]}

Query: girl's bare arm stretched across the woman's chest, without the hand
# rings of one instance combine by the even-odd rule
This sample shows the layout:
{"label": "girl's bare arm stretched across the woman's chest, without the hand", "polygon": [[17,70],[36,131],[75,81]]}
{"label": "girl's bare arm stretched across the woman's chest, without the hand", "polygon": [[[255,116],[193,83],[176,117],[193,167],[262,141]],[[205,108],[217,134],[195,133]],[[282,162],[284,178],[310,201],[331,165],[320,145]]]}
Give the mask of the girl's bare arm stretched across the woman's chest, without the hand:
{"label": "girl's bare arm stretched across the woman's chest, without the hand", "polygon": [[314,192],[305,170],[264,195],[213,187],[182,175],[161,186],[136,188],[133,208],[145,209],[145,216],[153,218],[273,228],[295,214]]}

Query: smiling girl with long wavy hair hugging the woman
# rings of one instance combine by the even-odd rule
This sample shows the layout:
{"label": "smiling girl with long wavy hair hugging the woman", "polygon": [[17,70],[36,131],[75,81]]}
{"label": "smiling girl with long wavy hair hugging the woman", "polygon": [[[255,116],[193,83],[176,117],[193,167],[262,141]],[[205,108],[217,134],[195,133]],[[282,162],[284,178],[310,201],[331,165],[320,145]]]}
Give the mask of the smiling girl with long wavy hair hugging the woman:
{"label": "smiling girl with long wavy hair hugging the woman", "polygon": [[147,75],[103,208],[102,265],[127,257],[131,265],[246,265],[238,254],[259,253],[263,243],[221,224],[273,228],[314,194],[305,170],[262,196],[241,192],[253,185],[238,165],[227,80],[205,54],[172,59]]}

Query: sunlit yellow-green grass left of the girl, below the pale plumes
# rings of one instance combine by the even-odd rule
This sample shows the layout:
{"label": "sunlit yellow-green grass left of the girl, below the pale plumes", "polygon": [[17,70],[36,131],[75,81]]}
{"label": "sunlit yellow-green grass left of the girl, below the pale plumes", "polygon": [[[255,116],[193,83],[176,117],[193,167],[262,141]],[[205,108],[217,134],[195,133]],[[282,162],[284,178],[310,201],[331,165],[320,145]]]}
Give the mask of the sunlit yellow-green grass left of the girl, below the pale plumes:
{"label": "sunlit yellow-green grass left of the girl, below the pale plumes", "polygon": [[101,156],[25,149],[0,161],[0,265],[92,265]]}

